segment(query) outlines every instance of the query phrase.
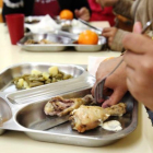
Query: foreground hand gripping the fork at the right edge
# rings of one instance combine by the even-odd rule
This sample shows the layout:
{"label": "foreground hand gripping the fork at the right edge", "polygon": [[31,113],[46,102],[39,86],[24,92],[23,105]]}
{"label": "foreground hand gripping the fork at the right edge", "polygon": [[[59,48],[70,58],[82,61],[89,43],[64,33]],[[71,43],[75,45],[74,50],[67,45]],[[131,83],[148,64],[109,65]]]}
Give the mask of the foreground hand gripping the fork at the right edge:
{"label": "foreground hand gripping the fork at the right edge", "polygon": [[[140,33],[140,24],[134,25]],[[131,94],[153,110],[153,40],[140,34],[129,34],[123,38],[128,51],[123,56],[127,64],[127,85]]]}

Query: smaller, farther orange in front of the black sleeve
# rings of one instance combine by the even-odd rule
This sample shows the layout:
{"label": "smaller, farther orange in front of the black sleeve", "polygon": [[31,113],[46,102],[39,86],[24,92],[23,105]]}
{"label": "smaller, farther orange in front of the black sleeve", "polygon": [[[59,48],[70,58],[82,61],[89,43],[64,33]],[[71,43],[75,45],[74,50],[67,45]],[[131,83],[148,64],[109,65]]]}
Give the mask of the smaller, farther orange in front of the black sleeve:
{"label": "smaller, farther orange in front of the black sleeve", "polygon": [[60,19],[62,20],[72,20],[73,13],[70,10],[62,10],[59,14]]}

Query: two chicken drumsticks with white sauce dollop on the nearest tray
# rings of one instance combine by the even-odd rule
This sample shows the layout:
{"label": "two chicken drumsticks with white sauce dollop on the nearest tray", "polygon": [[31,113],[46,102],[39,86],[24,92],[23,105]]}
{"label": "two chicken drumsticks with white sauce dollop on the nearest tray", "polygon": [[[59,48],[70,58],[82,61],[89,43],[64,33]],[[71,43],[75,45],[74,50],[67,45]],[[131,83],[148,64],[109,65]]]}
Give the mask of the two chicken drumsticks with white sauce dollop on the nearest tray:
{"label": "two chicken drumsticks with white sauce dollop on the nearest tray", "polygon": [[[126,114],[125,103],[119,103],[108,108],[102,108],[101,106],[85,106],[92,104],[95,104],[92,95],[86,95],[83,98],[70,99],[64,99],[63,97],[58,96],[52,97],[45,105],[44,111],[46,115],[59,117],[70,114],[69,120],[71,121],[71,127],[78,132],[85,132],[102,126],[110,116],[122,116]],[[115,127],[113,128],[115,131],[121,130],[121,126],[119,122],[117,123],[117,121],[105,123],[104,129],[110,129],[110,127],[108,127],[109,125]]]}

